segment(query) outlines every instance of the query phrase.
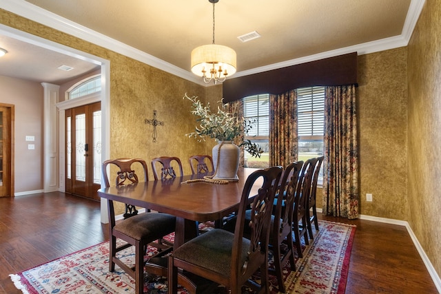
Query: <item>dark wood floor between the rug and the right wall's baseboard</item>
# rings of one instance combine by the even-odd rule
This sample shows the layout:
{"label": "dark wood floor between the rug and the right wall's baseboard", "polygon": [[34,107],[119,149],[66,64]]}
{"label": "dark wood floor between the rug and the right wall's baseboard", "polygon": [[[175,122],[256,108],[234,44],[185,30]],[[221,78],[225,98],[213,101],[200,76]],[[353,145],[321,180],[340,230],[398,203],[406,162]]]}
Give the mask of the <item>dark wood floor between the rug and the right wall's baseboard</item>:
{"label": "dark wood floor between the rug and the right wall's baseboard", "polygon": [[369,220],[356,224],[346,293],[438,293],[406,227]]}

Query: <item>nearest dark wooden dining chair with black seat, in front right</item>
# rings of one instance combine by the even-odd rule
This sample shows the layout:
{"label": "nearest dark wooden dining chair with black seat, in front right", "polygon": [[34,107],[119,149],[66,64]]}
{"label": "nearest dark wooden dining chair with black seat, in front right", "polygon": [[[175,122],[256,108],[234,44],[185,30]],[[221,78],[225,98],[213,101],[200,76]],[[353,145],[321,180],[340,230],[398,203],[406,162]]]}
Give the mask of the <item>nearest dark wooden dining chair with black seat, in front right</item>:
{"label": "nearest dark wooden dining chair with black seat, in front right", "polygon": [[[269,293],[268,240],[269,220],[281,167],[258,169],[247,177],[238,208],[238,222],[234,233],[213,229],[189,240],[169,256],[169,292],[177,293],[178,269],[194,273],[240,293],[247,283]],[[250,200],[252,202],[250,203]],[[251,239],[244,238],[245,211],[251,205],[252,219],[248,223]],[[260,270],[260,285],[249,280]]]}

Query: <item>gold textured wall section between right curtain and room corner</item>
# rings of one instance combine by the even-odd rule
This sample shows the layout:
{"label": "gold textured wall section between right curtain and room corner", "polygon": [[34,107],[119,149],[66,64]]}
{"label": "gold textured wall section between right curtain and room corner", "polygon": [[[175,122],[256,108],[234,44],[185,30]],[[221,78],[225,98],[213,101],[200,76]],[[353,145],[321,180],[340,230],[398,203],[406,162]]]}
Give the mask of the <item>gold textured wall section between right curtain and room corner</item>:
{"label": "gold textured wall section between right curtain and room corner", "polygon": [[[358,56],[360,214],[407,218],[407,48]],[[366,193],[373,201],[366,201]]]}

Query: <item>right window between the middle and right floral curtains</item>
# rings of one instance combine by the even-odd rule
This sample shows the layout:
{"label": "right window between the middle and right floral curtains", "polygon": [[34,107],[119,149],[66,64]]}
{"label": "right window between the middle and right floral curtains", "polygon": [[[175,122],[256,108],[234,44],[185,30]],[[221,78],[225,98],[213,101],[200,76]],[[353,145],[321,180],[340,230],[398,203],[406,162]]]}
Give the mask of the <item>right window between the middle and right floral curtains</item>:
{"label": "right window between the middle and right floral curtains", "polygon": [[[323,155],[325,134],[325,87],[297,89],[298,114],[298,160]],[[322,166],[323,168],[323,166]],[[318,184],[322,185],[323,171],[320,169]]]}

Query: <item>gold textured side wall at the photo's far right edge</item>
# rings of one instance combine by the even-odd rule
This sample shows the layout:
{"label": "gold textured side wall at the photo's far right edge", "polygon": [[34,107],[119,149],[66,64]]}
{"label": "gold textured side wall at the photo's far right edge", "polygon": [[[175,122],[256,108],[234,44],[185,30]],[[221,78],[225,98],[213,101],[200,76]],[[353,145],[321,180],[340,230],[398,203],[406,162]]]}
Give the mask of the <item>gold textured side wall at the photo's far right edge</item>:
{"label": "gold textured side wall at the photo's far right edge", "polygon": [[408,51],[409,215],[418,241],[441,275],[441,1],[427,0]]}

